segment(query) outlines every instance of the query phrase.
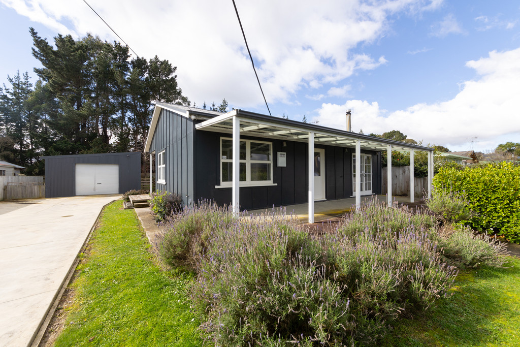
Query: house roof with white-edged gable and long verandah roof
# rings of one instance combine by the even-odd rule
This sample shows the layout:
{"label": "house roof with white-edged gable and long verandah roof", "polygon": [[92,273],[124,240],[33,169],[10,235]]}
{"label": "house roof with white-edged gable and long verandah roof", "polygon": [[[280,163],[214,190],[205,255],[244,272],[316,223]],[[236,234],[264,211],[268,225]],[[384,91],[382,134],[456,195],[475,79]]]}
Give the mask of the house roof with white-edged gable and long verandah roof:
{"label": "house roof with white-edged gable and long verandah roof", "polygon": [[240,135],[245,136],[307,142],[309,132],[313,132],[316,145],[322,144],[353,148],[356,146],[357,140],[359,140],[361,148],[369,150],[382,151],[386,150],[388,145],[391,145],[393,150],[407,151],[415,149],[433,151],[433,148],[430,147],[348,132],[316,124],[302,123],[279,117],[271,117],[269,115],[240,109],[232,110],[227,113],[220,113],[186,106],[162,104],[159,102],[155,105],[145,151],[150,149],[151,139],[155,131],[155,126],[157,126],[161,108],[183,114],[185,117],[203,120],[196,124],[196,130],[231,133],[233,128],[232,120],[233,118],[238,117],[240,119]]}

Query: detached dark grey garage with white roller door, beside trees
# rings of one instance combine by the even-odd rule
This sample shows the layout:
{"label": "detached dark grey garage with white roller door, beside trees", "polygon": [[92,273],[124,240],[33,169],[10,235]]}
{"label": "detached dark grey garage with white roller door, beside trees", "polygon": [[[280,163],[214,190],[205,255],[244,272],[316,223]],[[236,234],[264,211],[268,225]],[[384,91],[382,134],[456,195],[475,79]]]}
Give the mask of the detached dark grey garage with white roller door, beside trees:
{"label": "detached dark grey garage with white roller door, beside trees", "polygon": [[123,194],[141,187],[141,153],[45,156],[45,197]]}

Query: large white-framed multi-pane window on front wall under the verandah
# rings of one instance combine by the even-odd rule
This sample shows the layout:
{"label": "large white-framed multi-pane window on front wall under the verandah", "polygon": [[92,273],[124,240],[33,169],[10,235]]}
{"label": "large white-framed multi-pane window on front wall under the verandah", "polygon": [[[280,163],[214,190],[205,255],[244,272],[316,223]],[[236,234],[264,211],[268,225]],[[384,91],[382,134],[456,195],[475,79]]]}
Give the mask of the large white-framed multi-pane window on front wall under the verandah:
{"label": "large white-framed multi-pane window on front wall under the verandah", "polygon": [[[233,179],[233,141],[220,138],[220,184],[231,186]],[[272,143],[240,140],[240,185],[272,184]]]}

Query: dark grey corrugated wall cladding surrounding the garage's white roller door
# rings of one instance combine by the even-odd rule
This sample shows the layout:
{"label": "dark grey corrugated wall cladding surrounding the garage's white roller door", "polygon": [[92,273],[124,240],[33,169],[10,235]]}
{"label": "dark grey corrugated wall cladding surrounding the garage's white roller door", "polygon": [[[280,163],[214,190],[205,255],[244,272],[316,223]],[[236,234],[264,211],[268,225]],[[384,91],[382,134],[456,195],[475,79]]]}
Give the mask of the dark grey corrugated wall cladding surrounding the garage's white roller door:
{"label": "dark grey corrugated wall cladding surrounding the garage's white roller door", "polygon": [[119,165],[119,193],[141,187],[141,153],[99,153],[70,156],[45,156],[45,197],[76,195],[76,164]]}

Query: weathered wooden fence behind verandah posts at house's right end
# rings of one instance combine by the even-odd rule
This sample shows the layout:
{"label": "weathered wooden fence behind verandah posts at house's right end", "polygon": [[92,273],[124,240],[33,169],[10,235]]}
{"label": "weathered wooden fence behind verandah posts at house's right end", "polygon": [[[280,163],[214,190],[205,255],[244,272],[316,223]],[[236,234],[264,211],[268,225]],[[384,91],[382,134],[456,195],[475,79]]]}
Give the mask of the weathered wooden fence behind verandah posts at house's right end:
{"label": "weathered wooden fence behind verandah posts at house's right end", "polygon": [[[382,170],[382,194],[387,191],[387,169]],[[413,189],[416,198],[428,196],[428,177],[414,177]],[[392,166],[392,195],[410,196],[410,166]]]}

